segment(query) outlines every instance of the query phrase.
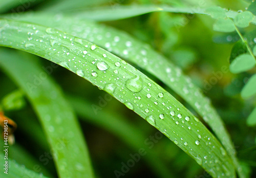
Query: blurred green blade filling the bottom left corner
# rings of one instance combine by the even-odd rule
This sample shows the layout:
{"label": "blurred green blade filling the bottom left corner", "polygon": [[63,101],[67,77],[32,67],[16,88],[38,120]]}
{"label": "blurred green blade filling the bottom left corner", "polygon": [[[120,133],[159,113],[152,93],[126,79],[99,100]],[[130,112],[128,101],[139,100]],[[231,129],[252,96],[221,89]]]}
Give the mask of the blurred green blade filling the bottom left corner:
{"label": "blurred green blade filling the bottom left corner", "polygon": [[[0,152],[0,159],[4,159],[4,153]],[[33,177],[33,178],[47,178],[46,176],[42,174],[38,174],[32,170],[27,169],[24,166],[21,166],[17,164],[15,161],[8,159],[8,174],[4,173],[5,170],[5,162],[1,164],[1,171],[0,171],[0,177],[10,177],[10,178],[17,178],[17,177]]]}

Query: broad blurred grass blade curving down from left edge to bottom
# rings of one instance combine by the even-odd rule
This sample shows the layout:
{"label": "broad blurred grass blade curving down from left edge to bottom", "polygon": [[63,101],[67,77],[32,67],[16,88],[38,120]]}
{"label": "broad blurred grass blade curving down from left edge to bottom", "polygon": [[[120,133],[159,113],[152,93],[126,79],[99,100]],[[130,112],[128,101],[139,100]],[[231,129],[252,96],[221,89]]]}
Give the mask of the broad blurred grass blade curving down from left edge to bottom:
{"label": "broad blurred grass blade curving down from left edge to bottom", "polygon": [[53,151],[59,176],[93,177],[79,125],[58,86],[36,65],[33,55],[26,53],[23,56],[1,49],[0,58],[0,66],[22,88],[36,110]]}

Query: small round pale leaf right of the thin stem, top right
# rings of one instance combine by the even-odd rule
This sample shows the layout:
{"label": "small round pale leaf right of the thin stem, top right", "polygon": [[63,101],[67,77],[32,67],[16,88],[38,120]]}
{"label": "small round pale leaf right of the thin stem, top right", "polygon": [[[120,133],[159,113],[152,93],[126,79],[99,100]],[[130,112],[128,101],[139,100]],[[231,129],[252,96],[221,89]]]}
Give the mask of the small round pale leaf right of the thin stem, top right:
{"label": "small round pale leaf right of the thin stem, top right", "polygon": [[248,27],[253,18],[254,15],[249,11],[239,13],[234,17],[234,25],[240,28]]}

